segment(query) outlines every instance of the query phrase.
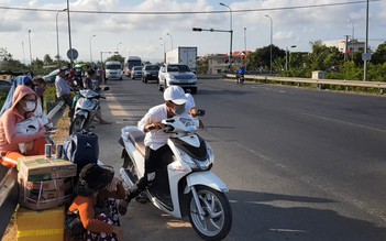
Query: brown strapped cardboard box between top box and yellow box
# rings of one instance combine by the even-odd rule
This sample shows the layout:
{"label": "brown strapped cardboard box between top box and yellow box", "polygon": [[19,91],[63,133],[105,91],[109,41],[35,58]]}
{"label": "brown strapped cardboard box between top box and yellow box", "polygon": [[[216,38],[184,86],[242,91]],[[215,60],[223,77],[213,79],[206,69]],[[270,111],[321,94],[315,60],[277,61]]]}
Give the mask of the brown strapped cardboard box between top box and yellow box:
{"label": "brown strapped cardboard box between top box and yellow box", "polygon": [[45,210],[68,204],[73,197],[73,177],[27,182],[18,175],[19,204],[33,210]]}

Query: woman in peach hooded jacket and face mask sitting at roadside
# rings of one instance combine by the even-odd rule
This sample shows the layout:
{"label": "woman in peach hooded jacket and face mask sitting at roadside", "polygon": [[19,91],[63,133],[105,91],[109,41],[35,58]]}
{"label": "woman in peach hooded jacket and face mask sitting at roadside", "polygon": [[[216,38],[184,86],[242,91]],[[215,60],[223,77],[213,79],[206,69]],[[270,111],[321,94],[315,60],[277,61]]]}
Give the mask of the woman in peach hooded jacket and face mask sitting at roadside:
{"label": "woman in peach hooded jacket and face mask sitting at roadside", "polygon": [[32,88],[18,86],[12,107],[0,118],[0,162],[15,167],[18,158],[25,155],[44,155],[45,138],[49,132],[38,123],[34,111],[37,96]]}

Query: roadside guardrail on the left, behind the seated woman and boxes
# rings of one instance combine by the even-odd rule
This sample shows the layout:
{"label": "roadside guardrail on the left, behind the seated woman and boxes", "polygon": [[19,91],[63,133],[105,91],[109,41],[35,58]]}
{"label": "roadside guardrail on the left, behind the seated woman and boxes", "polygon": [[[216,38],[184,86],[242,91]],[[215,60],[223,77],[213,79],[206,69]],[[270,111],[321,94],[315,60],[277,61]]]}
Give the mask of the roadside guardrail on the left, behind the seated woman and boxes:
{"label": "roadside guardrail on the left, behind the seated woman and boxes", "polygon": [[[54,120],[55,114],[63,107],[64,101],[59,101],[47,114],[49,120]],[[4,235],[14,209],[18,205],[18,171],[0,165],[0,237]]]}

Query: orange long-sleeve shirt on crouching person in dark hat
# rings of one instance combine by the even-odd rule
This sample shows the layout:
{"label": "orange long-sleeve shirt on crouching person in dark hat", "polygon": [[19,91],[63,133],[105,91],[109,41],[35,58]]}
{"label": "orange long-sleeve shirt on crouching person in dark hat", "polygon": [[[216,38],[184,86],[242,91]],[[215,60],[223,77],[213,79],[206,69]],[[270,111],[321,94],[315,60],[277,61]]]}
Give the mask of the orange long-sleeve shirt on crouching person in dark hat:
{"label": "orange long-sleeve shirt on crouching person in dark hat", "polygon": [[100,221],[95,218],[95,206],[98,200],[104,200],[109,197],[115,199],[124,199],[125,198],[125,190],[122,186],[122,183],[117,185],[115,191],[107,191],[102,190],[99,191],[98,196],[77,196],[71,206],[69,206],[68,211],[74,212],[78,210],[81,223],[84,224],[85,229],[91,232],[107,232],[111,233],[114,226],[109,224],[107,222]]}

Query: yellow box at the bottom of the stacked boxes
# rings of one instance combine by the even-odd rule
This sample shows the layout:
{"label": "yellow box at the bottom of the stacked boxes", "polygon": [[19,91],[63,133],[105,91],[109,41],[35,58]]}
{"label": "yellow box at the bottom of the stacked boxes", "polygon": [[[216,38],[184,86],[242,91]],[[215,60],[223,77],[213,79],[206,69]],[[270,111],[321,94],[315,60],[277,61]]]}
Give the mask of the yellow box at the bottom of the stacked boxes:
{"label": "yellow box at the bottom of the stacked boxes", "polygon": [[64,206],[44,211],[19,208],[16,239],[18,241],[63,241],[64,222]]}

